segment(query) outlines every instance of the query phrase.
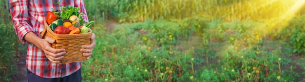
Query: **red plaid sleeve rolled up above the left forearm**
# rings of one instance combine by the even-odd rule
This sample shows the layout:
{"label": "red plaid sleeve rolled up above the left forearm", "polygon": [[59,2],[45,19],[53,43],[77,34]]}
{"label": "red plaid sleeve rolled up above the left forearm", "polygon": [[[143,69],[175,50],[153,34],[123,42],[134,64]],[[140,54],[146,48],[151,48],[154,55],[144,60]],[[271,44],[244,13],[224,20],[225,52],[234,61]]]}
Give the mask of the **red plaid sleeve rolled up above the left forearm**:
{"label": "red plaid sleeve rolled up above the left forearm", "polygon": [[22,43],[28,43],[23,39],[24,35],[33,31],[29,23],[28,0],[10,0],[10,13],[15,32]]}

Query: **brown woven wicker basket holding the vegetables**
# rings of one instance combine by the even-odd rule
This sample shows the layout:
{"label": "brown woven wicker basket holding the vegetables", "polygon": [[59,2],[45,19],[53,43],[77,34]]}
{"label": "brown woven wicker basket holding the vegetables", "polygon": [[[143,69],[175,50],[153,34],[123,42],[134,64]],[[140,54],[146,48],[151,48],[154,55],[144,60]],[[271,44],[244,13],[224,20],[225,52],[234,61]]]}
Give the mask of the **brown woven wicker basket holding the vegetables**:
{"label": "brown woven wicker basket holding the vegetables", "polygon": [[92,36],[92,30],[82,34],[55,34],[46,21],[44,21],[44,30],[40,32],[41,38],[46,37],[54,39],[56,42],[51,46],[55,49],[64,48],[66,54],[59,63],[87,61],[87,57],[80,52],[82,45],[89,45]]}

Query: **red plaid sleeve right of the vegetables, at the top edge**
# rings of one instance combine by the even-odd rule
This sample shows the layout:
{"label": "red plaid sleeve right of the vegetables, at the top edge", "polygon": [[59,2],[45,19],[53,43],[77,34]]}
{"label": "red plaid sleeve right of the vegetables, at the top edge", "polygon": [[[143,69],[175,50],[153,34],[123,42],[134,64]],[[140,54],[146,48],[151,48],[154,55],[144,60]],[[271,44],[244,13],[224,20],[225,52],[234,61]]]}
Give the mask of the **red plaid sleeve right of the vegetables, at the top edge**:
{"label": "red plaid sleeve right of the vegetables, at the top edge", "polygon": [[79,12],[83,13],[83,15],[81,17],[84,19],[84,21],[89,22],[84,0],[77,0],[76,7],[79,7]]}

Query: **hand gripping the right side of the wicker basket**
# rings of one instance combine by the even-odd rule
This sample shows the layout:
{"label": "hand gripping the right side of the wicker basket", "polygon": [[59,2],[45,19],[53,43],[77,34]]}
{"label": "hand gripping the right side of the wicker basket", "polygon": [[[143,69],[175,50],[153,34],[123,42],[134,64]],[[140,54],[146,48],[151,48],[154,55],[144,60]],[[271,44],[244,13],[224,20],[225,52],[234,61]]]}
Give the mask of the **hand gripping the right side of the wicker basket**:
{"label": "hand gripping the right side of the wicker basket", "polygon": [[90,57],[92,55],[94,46],[95,46],[95,34],[92,33],[90,45],[83,45],[83,46],[81,46],[81,49],[80,49],[80,51],[83,52],[83,56],[88,57],[87,58],[88,60],[90,59]]}

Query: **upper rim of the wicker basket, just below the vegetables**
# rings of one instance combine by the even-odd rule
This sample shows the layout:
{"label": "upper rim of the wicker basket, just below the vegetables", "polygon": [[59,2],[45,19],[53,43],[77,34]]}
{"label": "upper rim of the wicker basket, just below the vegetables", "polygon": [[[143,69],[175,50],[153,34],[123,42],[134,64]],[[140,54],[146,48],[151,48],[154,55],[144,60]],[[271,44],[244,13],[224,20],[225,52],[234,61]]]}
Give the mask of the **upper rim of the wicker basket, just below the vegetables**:
{"label": "upper rim of the wicker basket, just below the vegetables", "polygon": [[57,39],[78,39],[78,38],[88,38],[92,36],[92,30],[89,28],[88,33],[81,33],[81,34],[56,34],[54,31],[51,30],[50,26],[47,24],[46,21],[43,23],[44,30],[49,33],[52,37]]}

